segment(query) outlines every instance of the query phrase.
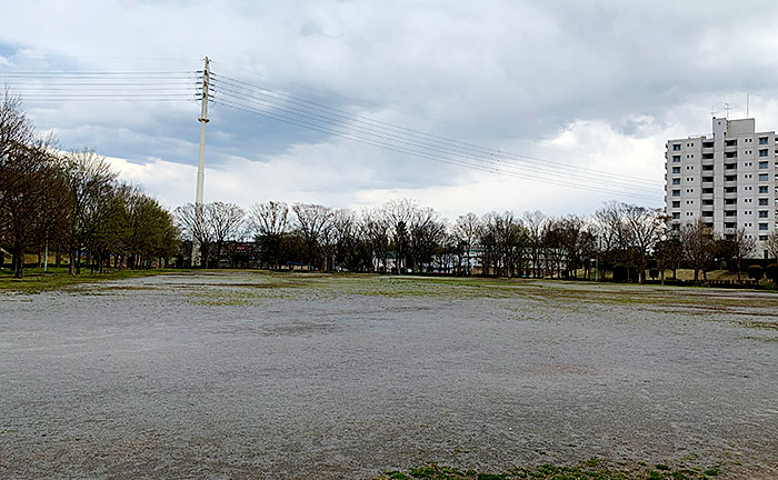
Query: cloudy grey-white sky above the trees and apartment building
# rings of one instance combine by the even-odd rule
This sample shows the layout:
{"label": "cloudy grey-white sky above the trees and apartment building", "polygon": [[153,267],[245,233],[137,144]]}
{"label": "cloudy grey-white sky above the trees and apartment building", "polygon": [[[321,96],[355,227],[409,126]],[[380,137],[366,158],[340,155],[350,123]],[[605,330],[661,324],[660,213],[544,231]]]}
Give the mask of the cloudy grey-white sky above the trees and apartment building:
{"label": "cloudy grey-white sky above the trees and apartment building", "polygon": [[[708,133],[726,103],[744,118],[747,94],[757,129],[778,129],[767,1],[0,0],[0,81],[37,128],[106,156],[171,209],[194,200],[206,56],[207,202],[410,198],[449,219],[661,207],[668,139]],[[107,100],[76,84],[86,77],[66,84],[72,72],[112,72],[143,93]],[[36,90],[56,82],[59,93]],[[179,97],[150,100],[168,93]],[[325,117],[331,127],[310,127]]]}

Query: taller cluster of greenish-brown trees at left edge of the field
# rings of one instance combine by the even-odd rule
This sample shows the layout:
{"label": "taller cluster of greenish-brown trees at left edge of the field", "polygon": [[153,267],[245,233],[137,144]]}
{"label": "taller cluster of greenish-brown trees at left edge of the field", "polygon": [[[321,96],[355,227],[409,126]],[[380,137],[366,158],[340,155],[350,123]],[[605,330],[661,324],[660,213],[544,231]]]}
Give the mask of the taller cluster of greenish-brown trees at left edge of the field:
{"label": "taller cluster of greenish-brown trees at left edge of the field", "polygon": [[[20,278],[24,256],[51,251],[69,272],[146,268],[174,257],[179,234],[170,213],[139,187],[119,180],[91,150],[62,152],[36,131],[21,101],[0,99],[0,247]],[[0,266],[3,263],[0,251]]]}

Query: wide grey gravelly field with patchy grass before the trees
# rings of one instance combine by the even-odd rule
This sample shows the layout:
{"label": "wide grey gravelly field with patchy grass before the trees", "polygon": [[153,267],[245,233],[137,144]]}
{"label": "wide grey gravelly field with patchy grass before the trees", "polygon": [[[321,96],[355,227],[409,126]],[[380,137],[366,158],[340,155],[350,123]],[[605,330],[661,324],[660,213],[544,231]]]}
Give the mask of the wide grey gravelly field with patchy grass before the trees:
{"label": "wide grey gravelly field with patchy grass before the trees", "polygon": [[778,296],[315,277],[0,294],[0,478],[373,478],[428,461],[778,478]]}

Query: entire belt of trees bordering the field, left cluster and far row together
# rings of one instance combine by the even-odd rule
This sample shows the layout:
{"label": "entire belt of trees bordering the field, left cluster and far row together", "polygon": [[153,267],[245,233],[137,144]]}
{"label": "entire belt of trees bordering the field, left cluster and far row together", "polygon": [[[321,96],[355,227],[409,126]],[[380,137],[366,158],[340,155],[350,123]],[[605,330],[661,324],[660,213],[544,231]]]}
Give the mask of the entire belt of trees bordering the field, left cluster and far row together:
{"label": "entire belt of trees bordering the field, left cluster and far row together", "polygon": [[[726,263],[750,263],[744,230],[719,238],[702,222],[668,229],[660,209],[610,202],[588,217],[539,211],[467,213],[453,222],[408,199],[363,209],[268,201],[245,210],[213,202],[171,214],[139,187],[118,178],[91,150],[62,152],[36,131],[4,93],[0,101],[0,248],[17,277],[24,256],[62,254],[69,272],[104,268],[259,267],[355,272],[441,272],[498,277],[604,278],[646,281],[679,268],[695,280]],[[768,252],[778,256],[778,239]],[[2,251],[0,250],[0,254]],[[0,264],[2,264],[0,258]],[[774,269],[775,270],[775,269]]]}

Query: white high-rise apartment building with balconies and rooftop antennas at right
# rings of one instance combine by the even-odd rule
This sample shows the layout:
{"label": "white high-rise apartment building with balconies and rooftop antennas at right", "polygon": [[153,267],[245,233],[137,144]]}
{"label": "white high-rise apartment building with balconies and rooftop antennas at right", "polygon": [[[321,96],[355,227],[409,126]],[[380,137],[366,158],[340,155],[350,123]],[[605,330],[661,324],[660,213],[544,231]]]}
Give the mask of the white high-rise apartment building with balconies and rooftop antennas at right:
{"label": "white high-rise apartment building with balconies and rooftop antennas at right", "polygon": [[754,119],[714,117],[710,136],[667,142],[665,208],[670,226],[702,219],[732,238],[738,229],[767,258],[765,240],[776,230],[776,132],[757,132]]}

